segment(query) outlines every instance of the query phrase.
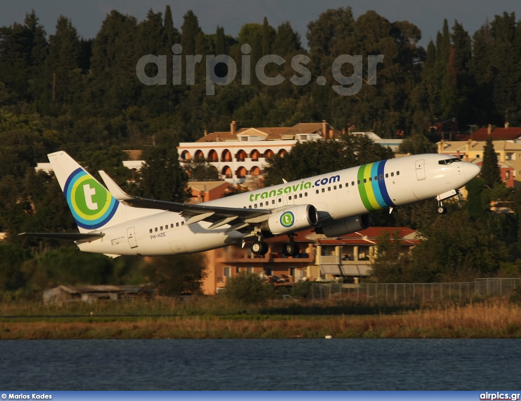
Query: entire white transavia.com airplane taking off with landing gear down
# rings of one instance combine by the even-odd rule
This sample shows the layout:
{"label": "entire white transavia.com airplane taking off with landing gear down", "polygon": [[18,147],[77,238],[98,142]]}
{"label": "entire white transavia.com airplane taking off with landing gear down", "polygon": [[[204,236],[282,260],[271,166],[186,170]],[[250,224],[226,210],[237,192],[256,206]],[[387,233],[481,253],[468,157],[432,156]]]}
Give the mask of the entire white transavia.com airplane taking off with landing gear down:
{"label": "entire white transavia.com airplane taking off with landing gear down", "polygon": [[193,205],[128,195],[100,171],[104,187],[65,152],[48,158],[80,232],[20,235],[72,240],[82,251],[110,257],[195,253],[246,241],[264,255],[263,239],[276,235],[289,236],[283,253],[295,256],[297,231],[338,237],[369,227],[369,212],[434,197],[444,214],[442,200],[480,172],[454,156],[407,156]]}

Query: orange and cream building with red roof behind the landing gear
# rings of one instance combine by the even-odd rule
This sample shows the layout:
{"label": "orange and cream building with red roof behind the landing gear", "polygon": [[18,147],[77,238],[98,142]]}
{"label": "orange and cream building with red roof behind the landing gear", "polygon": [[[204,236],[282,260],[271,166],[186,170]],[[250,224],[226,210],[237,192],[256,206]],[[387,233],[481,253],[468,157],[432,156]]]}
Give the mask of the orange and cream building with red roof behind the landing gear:
{"label": "orange and cream building with red roof behind the landing gear", "polygon": [[328,239],[313,230],[299,232],[294,237],[301,252],[286,257],[282,247],[287,236],[267,239],[269,251],[264,256],[253,255],[248,246],[231,245],[209,250],[206,259],[205,294],[216,294],[226,286],[230,277],[240,273],[255,273],[274,285],[291,285],[301,280],[342,280],[358,283],[370,275],[376,255],[377,237],[398,231],[402,253],[411,252],[419,244],[418,233],[406,227],[370,227],[366,230]]}

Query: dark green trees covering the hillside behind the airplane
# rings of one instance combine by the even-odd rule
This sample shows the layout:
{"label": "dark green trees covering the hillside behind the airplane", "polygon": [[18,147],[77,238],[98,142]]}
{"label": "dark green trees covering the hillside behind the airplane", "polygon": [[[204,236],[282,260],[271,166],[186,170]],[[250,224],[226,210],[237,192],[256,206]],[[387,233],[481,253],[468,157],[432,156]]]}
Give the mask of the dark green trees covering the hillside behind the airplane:
{"label": "dark green trees covering the hillside behind the airplane", "polygon": [[[10,259],[0,259],[13,260],[10,266],[18,266],[12,274],[7,273],[7,267],[2,268],[2,277],[6,277],[0,279],[0,290],[42,283],[41,277],[58,277],[44,267],[42,255],[46,251],[63,252],[60,258],[75,260],[68,254],[72,251],[56,250],[64,244],[16,235],[42,228],[75,230],[56,180],[34,172],[37,162],[47,161],[46,154],[59,149],[93,173],[104,169],[131,193],[183,200],[189,196],[185,191],[189,179],[211,178],[215,171],[194,162],[185,172],[179,166],[176,145],[198,139],[204,130],[228,130],[231,120],[240,127],[277,127],[325,119],[339,130],[374,131],[383,137],[403,133],[409,139],[403,149],[411,153],[432,151],[437,138],[429,127],[437,119],[454,118],[462,131],[468,124],[502,126],[506,115],[512,126],[521,124],[521,23],[514,14],[497,15],[473,34],[458,21],[450,28],[445,20],[436,41],[429,42],[427,49],[418,46],[420,38],[420,30],[410,22],[390,22],[374,11],[355,19],[349,7],[327,10],[309,22],[308,49],[303,48],[290,22],[275,28],[265,18],[262,24],[244,24],[237,37],[232,37],[222,27],[215,33],[203,32],[192,11],[184,15],[181,27],[174,27],[169,6],[164,13],[150,10],[143,21],[113,10],[93,39],[80,37],[72,21],[64,16],[58,18],[55,34],[47,35],[34,11],[23,23],[0,27],[0,230],[9,234],[0,252],[10,255]],[[174,44],[182,46],[183,60],[187,55],[203,56],[202,64],[196,64],[194,82],[187,82],[183,61],[181,83],[173,84],[172,74],[177,68],[172,61]],[[243,44],[251,46],[251,81],[247,85],[241,81]],[[139,81],[136,64],[146,54],[167,56],[167,85],[146,86]],[[217,85],[215,95],[207,96],[204,56],[216,54],[229,55],[235,61],[237,77],[226,86]],[[255,76],[257,60],[267,54],[286,61],[266,67],[268,76],[281,74],[285,78],[279,85],[265,85]],[[311,82],[306,85],[290,82],[295,73],[291,59],[297,54],[310,59],[306,67],[311,71]],[[340,96],[331,88],[336,84],[331,66],[343,54],[361,55],[363,60],[361,90],[353,96]],[[368,76],[368,56],[378,54],[384,55],[383,62],[378,64],[376,76]],[[146,72],[154,76],[156,67],[149,64]],[[349,64],[342,67],[345,76],[353,72]],[[216,73],[226,70],[218,66]],[[318,85],[318,77],[325,77],[326,85]],[[373,79],[376,85],[369,85]],[[313,148],[299,145],[294,157],[275,157],[267,169],[266,182],[301,178],[388,156],[385,149],[373,148],[364,139],[345,136],[342,141],[319,141]],[[147,161],[139,177],[121,166],[127,158],[122,149],[132,148],[144,149]],[[297,155],[304,157],[300,165]],[[313,163],[302,164],[302,160]],[[507,249],[501,253],[507,256],[498,260],[515,266],[517,215],[490,215],[487,202],[492,196],[502,196],[515,205],[521,201],[517,192],[494,184],[495,172],[491,174],[491,179],[487,173],[485,182],[471,185],[475,196],[469,196],[461,209],[454,206],[452,216],[462,214],[462,219],[471,219],[462,221],[493,232],[490,235]],[[167,179],[170,185],[165,184]],[[438,226],[429,217],[430,207],[418,204],[390,216],[377,214],[375,223],[410,225],[435,233]],[[449,227],[457,230],[460,225],[464,224]],[[485,242],[475,242],[481,247],[495,244],[489,236],[481,236]],[[454,243],[457,238],[450,237],[445,243]],[[429,262],[434,260],[430,258]],[[481,255],[479,260],[492,259]],[[110,269],[118,266],[114,263]],[[165,259],[164,263],[170,261]],[[461,265],[461,261],[457,263]],[[432,266],[425,267],[429,269]],[[489,270],[481,269],[480,274],[498,269],[496,263]],[[137,277],[134,273],[115,274],[105,274],[93,282]],[[145,277],[144,273],[140,277]],[[159,276],[150,273],[146,277]]]}

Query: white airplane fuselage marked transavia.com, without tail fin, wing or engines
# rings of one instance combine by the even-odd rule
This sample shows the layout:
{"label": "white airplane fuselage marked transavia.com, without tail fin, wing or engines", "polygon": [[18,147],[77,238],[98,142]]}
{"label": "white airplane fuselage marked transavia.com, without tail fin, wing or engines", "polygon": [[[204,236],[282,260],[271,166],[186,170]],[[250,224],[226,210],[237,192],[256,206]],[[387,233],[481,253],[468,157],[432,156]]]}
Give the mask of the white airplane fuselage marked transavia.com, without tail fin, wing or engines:
{"label": "white airplane fuselage marked transavia.com, without tail fin, wing or engines", "polygon": [[[204,205],[265,210],[313,205],[319,224],[325,224],[434,198],[461,188],[477,175],[477,166],[450,160],[454,158],[438,154],[383,160],[212,200]],[[172,255],[202,252],[251,237],[241,231],[230,231],[233,222],[209,229],[210,222],[187,224],[188,218],[179,213],[145,210],[146,216],[99,230],[105,234],[102,239],[79,242],[78,247],[108,255]]]}

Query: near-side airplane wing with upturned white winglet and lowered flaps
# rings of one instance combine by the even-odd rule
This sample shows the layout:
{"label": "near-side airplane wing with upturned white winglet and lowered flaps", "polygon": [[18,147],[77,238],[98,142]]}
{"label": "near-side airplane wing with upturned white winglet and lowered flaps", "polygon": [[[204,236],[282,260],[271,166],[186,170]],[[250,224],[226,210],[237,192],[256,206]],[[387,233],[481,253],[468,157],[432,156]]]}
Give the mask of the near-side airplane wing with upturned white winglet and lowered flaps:
{"label": "near-side airplane wing with upturned white winglet and lowered flaps", "polygon": [[244,209],[234,207],[209,206],[205,204],[187,204],[181,202],[166,202],[165,200],[146,199],[139,196],[131,196],[121,190],[121,188],[107,175],[105,171],[98,171],[105,182],[108,191],[121,202],[133,206],[149,209],[168,210],[180,213],[181,216],[189,217],[187,225],[198,221],[208,221],[213,224],[209,229],[220,227],[221,225],[234,223],[232,228],[239,230],[249,224],[262,222],[271,215],[270,210],[266,209]]}

